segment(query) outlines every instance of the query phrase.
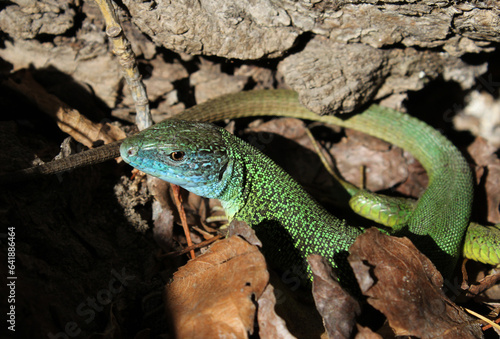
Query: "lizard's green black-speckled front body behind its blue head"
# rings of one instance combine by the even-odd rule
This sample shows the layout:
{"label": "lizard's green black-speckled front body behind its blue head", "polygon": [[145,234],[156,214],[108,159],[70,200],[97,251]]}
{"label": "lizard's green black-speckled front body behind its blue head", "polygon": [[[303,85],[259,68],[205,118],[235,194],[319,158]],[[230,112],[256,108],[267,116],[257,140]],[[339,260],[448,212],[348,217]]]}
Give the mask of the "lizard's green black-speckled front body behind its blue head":
{"label": "lizard's green black-speckled front body behind its blue head", "polygon": [[313,253],[349,271],[347,250],[361,230],[328,213],[259,150],[232,135],[228,138],[231,170],[224,173],[225,189],[218,197],[228,218],[247,222],[271,262],[304,280],[310,277],[305,258]]}

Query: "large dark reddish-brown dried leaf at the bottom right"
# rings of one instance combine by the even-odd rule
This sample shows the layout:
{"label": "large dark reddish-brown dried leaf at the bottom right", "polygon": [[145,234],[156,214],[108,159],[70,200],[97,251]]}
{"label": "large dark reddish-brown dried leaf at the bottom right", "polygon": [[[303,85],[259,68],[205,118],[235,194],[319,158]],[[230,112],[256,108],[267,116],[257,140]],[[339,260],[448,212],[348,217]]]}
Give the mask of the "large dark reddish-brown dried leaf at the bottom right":
{"label": "large dark reddish-brown dried leaf at the bottom right", "polygon": [[410,240],[372,228],[356,239],[350,253],[357,279],[374,278],[373,285],[361,285],[368,303],[386,315],[396,335],[482,337],[479,325],[444,295],[441,275]]}

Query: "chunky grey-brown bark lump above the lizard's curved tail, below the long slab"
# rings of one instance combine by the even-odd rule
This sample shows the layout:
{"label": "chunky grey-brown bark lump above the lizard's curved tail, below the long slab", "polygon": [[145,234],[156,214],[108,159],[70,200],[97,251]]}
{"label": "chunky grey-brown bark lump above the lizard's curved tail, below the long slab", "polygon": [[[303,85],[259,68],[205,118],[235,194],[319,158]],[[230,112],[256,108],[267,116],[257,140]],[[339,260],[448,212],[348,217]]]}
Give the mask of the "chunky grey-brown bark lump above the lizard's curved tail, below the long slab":
{"label": "chunky grey-brown bark lump above the lizard's curved tail, below the long slab", "polygon": [[374,98],[416,91],[442,76],[469,88],[486,64],[467,65],[447,53],[377,49],[315,37],[280,62],[285,82],[316,113],[352,112]]}

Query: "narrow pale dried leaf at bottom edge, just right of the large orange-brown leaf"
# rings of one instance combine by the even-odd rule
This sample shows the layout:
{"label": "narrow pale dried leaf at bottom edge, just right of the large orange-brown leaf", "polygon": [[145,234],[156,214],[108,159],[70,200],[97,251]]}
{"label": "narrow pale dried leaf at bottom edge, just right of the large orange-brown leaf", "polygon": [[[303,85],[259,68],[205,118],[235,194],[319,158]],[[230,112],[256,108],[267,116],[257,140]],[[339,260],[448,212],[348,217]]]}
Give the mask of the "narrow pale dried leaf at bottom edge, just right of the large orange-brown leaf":
{"label": "narrow pale dried leaf at bottom edge, just right of the large orange-brown leaf", "polygon": [[259,303],[257,319],[259,322],[259,336],[261,339],[295,338],[286,328],[285,321],[274,311],[276,297],[274,296],[274,288],[272,285],[267,285],[264,293],[262,293],[257,302]]}

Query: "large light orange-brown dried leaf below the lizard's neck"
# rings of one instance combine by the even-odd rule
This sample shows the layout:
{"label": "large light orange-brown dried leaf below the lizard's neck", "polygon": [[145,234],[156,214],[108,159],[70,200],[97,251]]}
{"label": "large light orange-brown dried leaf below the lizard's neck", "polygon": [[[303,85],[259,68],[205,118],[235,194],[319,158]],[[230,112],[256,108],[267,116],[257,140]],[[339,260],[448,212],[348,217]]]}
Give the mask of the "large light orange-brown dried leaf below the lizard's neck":
{"label": "large light orange-brown dried leaf below the lizard's neck", "polygon": [[178,338],[246,338],[254,328],[254,298],[269,280],[257,247],[239,237],[215,243],[189,261],[166,287],[165,304]]}

